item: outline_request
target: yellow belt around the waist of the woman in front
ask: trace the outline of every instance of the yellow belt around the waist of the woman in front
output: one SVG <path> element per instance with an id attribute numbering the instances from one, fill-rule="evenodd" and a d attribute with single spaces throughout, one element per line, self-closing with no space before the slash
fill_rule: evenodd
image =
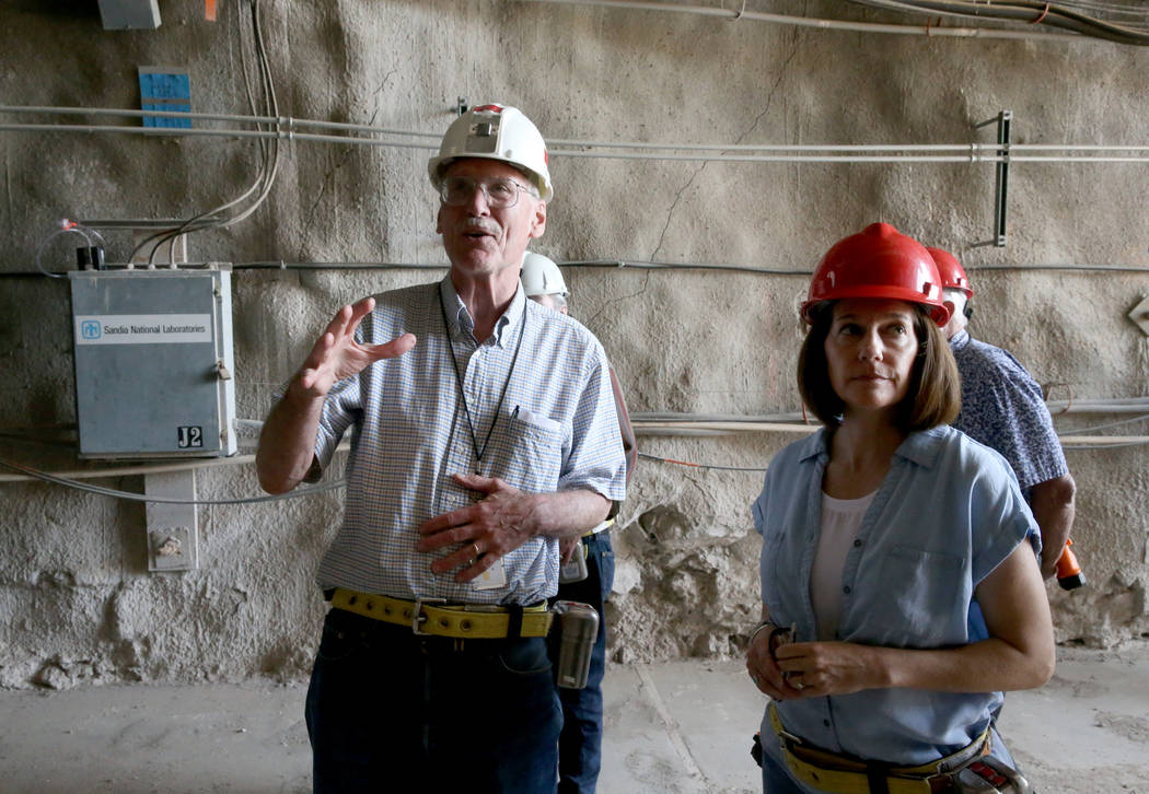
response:
<path id="1" fill-rule="evenodd" d="M 766 707 L 786 765 L 808 786 L 834 794 L 931 794 L 953 791 L 953 772 L 989 753 L 989 729 L 957 753 L 918 766 L 890 766 L 824 750 L 787 733 L 778 709 Z"/>

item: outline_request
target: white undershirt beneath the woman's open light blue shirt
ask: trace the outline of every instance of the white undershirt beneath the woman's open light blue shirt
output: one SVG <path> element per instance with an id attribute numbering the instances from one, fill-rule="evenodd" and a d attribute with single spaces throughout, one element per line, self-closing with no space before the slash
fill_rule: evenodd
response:
<path id="1" fill-rule="evenodd" d="M 818 622 L 818 639 L 833 640 L 842 612 L 842 568 L 877 491 L 861 499 L 822 494 L 822 537 L 810 569 L 810 601 Z"/>

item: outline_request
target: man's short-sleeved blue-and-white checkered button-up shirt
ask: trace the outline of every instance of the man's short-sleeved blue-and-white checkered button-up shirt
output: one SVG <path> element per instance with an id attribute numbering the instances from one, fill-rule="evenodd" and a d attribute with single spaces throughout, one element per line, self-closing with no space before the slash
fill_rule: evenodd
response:
<path id="1" fill-rule="evenodd" d="M 507 394 L 483 460 L 468 427 L 439 291 L 481 448 Z M 543 314 L 546 313 L 546 314 Z M 558 544 L 532 538 L 506 555 L 507 585 L 477 589 L 455 572 L 435 576 L 437 554 L 415 549 L 419 524 L 472 503 L 454 473 L 500 477 L 523 491 L 585 488 L 622 501 L 625 458 L 607 356 L 577 321 L 526 300 L 519 286 L 494 333 L 478 344 L 475 323 L 450 279 L 376 296 L 357 338 L 386 342 L 403 332 L 415 348 L 339 381 L 324 403 L 315 454 L 324 467 L 354 429 L 342 525 L 319 566 L 322 587 L 401 599 L 530 604 L 558 587 Z M 522 352 L 508 383 L 523 334 Z"/>

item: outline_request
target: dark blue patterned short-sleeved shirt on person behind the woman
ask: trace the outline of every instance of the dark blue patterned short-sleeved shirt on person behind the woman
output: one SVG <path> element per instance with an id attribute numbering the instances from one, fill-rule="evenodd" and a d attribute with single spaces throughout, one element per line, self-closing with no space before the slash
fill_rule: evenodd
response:
<path id="1" fill-rule="evenodd" d="M 1026 493 L 1069 473 L 1041 387 L 1018 360 L 964 330 L 949 347 L 962 373 L 962 414 L 954 426 L 1004 455 Z"/>

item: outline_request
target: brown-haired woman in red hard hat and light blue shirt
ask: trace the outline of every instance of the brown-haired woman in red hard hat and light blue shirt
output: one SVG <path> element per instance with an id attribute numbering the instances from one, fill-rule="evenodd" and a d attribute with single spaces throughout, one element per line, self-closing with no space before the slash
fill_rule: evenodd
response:
<path id="1" fill-rule="evenodd" d="M 770 794 L 1016 774 L 992 715 L 1052 674 L 1040 538 L 1004 458 L 947 426 L 948 315 L 933 259 L 888 224 L 833 246 L 810 284 L 797 378 L 825 427 L 774 457 L 753 504 Z"/>

